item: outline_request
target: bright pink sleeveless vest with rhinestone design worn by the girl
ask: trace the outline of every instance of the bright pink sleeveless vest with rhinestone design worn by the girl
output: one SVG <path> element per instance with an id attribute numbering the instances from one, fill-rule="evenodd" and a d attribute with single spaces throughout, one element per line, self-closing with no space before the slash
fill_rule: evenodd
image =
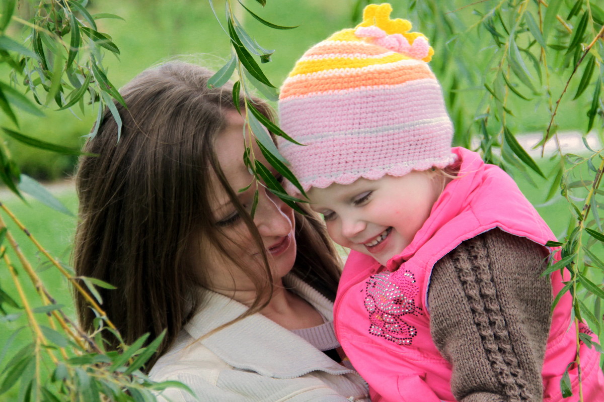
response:
<path id="1" fill-rule="evenodd" d="M 334 311 L 336 335 L 369 383 L 373 402 L 455 401 L 449 386 L 451 365 L 432 342 L 426 305 L 432 267 L 439 259 L 495 227 L 541 245 L 555 240 L 505 172 L 485 164 L 475 152 L 453 151 L 461 160 L 459 178 L 446 186 L 413 242 L 386 267 L 354 251 L 344 267 Z M 556 295 L 564 286 L 561 274 L 551 274 L 551 281 Z M 576 328 L 570 312 L 571 297 L 566 294 L 553 312 L 542 370 L 547 402 L 563 401 L 560 379 L 575 359 Z M 582 345 L 585 401 L 604 401 L 599 357 Z M 569 373 L 574 396 L 564 401 L 576 402 L 574 365 Z"/>

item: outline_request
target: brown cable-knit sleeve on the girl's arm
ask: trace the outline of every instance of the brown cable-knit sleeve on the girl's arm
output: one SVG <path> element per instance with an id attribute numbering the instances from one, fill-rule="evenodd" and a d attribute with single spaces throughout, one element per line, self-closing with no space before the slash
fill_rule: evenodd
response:
<path id="1" fill-rule="evenodd" d="M 543 247 L 493 229 L 436 263 L 432 339 L 451 362 L 461 402 L 542 401 L 551 284 Z"/>

